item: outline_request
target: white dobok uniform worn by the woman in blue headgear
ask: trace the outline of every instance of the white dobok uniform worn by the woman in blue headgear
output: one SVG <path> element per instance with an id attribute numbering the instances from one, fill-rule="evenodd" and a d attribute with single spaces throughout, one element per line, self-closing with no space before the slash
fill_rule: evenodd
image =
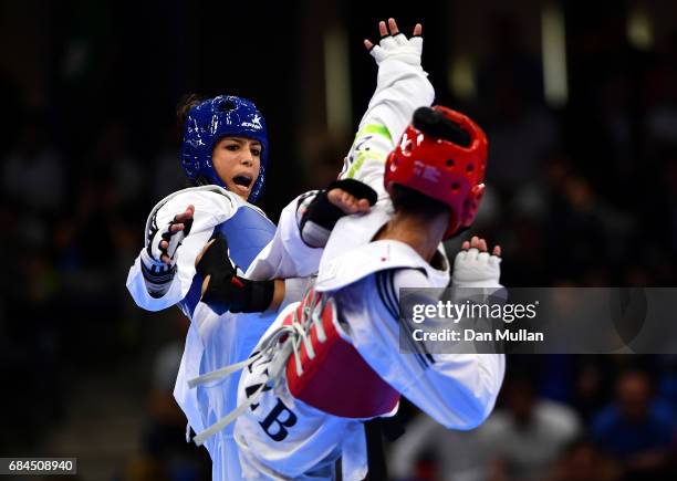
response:
<path id="1" fill-rule="evenodd" d="M 228 236 L 231 257 L 239 255 L 237 263 L 247 266 L 272 237 L 274 224 L 259 208 L 217 186 L 174 192 L 153 209 L 149 222 L 153 220 L 158 226 L 166 226 L 188 205 L 195 206 L 194 221 L 189 234 L 176 251 L 176 272 L 166 293 L 159 297 L 148 293 L 140 254 L 129 269 L 127 289 L 139 307 L 162 311 L 177 304 L 190 318 L 174 396 L 189 426 L 200 432 L 236 408 L 239 374 L 195 389 L 188 387 L 188 379 L 246 359 L 274 320 L 274 314 L 216 314 L 199 301 L 201 278 L 196 275 L 196 257 L 211 236 L 226 226 L 238 234 Z M 257 238 L 261 239 L 258 248 Z M 289 292 L 284 303 L 294 295 L 295 300 L 300 299 L 305 284 L 303 280 L 289 280 L 287 286 Z M 210 437 L 205 446 L 212 460 L 215 481 L 242 479 L 232 427 Z"/>

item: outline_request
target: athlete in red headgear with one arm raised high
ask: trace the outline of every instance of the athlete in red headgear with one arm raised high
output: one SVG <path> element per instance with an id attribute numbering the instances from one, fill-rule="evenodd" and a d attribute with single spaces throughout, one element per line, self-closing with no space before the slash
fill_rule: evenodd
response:
<path id="1" fill-rule="evenodd" d="M 384 38 L 371 50 L 378 85 L 340 176 L 372 187 L 377 202 L 368 213 L 336 219 L 331 189 L 302 196 L 284 209 L 273 241 L 247 273 L 305 275 L 321 255 L 314 289 L 268 330 L 246 363 L 238 410 L 213 427 L 237 419 L 240 461 L 251 479 L 333 479 L 340 457 L 344 479 L 363 479 L 363 420 L 393 415 L 405 396 L 446 427 L 471 429 L 493 408 L 503 378 L 498 354 L 437 354 L 414 343 L 413 354 L 400 353 L 407 326 L 399 320 L 399 290 L 446 287 L 450 279 L 498 289 L 500 249 L 490 255 L 473 238 L 450 278 L 440 242 L 472 222 L 487 139 L 461 114 L 417 108 L 434 96 L 420 66 L 420 25 L 412 39 L 393 20 L 389 35 L 385 22 L 379 28 Z M 210 276 L 209 305 L 227 304 L 237 289 L 226 252 L 226 240 L 218 239 L 198 264 Z"/>

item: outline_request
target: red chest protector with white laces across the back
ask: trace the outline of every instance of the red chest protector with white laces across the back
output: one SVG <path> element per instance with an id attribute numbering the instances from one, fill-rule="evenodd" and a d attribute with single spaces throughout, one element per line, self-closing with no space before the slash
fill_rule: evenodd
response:
<path id="1" fill-rule="evenodd" d="M 314 321 L 314 322 L 313 322 Z M 338 333 L 334 300 L 311 290 L 283 324 L 300 322 L 312 344 L 309 353 L 299 343 L 300 367 L 292 354 L 287 362 L 287 384 L 303 402 L 330 415 L 344 418 L 373 418 L 390 412 L 399 393 L 369 367 L 352 344 Z M 315 323 L 322 325 L 324 336 Z"/>

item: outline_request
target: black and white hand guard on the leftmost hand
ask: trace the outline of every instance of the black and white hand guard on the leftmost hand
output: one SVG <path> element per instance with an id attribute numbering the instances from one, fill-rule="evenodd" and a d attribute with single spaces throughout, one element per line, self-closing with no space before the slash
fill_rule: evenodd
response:
<path id="1" fill-rule="evenodd" d="M 175 223 L 177 223 L 176 220 L 171 220 L 160 229 L 157 226 L 156 210 L 150 215 L 146 224 L 146 249 L 140 253 L 142 273 L 146 281 L 146 289 L 153 297 L 162 297 L 169 289 L 176 272 L 176 251 L 190 232 L 192 219 L 184 222 L 184 230 L 179 232 L 171 232 Z M 160 245 L 162 241 L 167 241 L 167 248 Z M 170 259 L 169 264 L 163 262 L 163 255 Z"/>

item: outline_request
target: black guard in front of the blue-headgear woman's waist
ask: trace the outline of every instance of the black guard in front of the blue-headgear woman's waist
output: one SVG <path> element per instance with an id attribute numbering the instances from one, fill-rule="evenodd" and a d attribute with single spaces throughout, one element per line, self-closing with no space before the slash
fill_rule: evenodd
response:
<path id="1" fill-rule="evenodd" d="M 207 248 L 196 265 L 197 272 L 209 284 L 202 302 L 221 315 L 225 312 L 251 313 L 267 311 L 274 294 L 274 281 L 250 281 L 237 275 L 228 255 L 228 242 L 222 234 Z"/>

